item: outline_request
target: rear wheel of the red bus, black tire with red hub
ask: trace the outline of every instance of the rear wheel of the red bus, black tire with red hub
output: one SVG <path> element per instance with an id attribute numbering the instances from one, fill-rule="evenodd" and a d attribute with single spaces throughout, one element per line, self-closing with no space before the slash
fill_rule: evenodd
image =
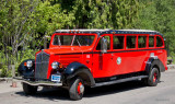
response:
<path id="1" fill-rule="evenodd" d="M 150 71 L 149 78 L 143 79 L 142 81 L 145 85 L 156 86 L 158 83 L 160 82 L 160 77 L 161 74 L 159 72 L 159 69 L 152 68 L 152 70 Z"/>

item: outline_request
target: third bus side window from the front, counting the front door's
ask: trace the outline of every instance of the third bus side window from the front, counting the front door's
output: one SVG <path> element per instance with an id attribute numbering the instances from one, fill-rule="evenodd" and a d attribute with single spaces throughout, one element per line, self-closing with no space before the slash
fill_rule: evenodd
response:
<path id="1" fill-rule="evenodd" d="M 127 48 L 136 48 L 136 36 L 127 36 Z"/>

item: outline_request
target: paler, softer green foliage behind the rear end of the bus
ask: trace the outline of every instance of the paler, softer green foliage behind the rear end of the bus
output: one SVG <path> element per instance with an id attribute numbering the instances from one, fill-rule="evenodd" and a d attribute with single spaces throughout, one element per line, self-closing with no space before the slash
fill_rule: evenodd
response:
<path id="1" fill-rule="evenodd" d="M 140 0 L 139 20 L 136 28 L 154 30 L 166 38 L 170 55 L 175 51 L 175 1 L 174 0 Z"/>

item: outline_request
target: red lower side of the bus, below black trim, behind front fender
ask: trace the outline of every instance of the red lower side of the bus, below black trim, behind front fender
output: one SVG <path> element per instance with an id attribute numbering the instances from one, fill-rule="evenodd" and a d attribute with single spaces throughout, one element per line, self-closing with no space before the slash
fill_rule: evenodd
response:
<path id="1" fill-rule="evenodd" d="M 161 53 L 160 53 L 161 51 Z M 125 74 L 131 72 L 144 71 L 145 63 L 150 58 L 150 54 L 154 53 L 155 56 L 166 66 L 166 50 L 143 50 L 143 51 L 127 51 L 127 53 L 113 53 L 112 54 L 94 54 L 93 66 L 94 78 L 113 77 L 117 74 Z M 113 57 L 113 58 L 112 58 Z M 117 58 L 121 58 L 121 63 L 117 65 Z"/>

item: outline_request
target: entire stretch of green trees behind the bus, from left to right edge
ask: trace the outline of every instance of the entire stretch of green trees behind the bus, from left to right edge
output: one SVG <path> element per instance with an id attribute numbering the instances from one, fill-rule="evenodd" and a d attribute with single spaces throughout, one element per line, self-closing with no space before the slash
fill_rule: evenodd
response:
<path id="1" fill-rule="evenodd" d="M 164 34 L 175 55 L 174 4 L 174 0 L 1 0 L 0 62 L 3 69 L 10 65 L 16 69 L 21 61 L 35 58 L 44 36 L 66 28 L 154 30 Z"/>

